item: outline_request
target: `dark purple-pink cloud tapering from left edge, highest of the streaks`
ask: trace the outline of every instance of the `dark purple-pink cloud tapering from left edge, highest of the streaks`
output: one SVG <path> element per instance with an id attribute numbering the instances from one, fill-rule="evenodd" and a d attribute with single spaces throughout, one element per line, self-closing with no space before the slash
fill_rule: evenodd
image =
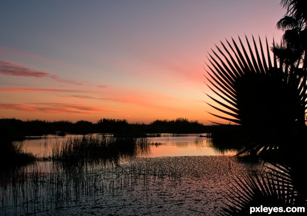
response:
<path id="1" fill-rule="evenodd" d="M 1 59 L 0 59 L 0 74 L 6 75 L 6 76 L 51 78 L 58 82 L 82 85 L 82 83 L 77 82 L 77 81 L 62 79 L 59 76 L 54 75 L 54 74 L 50 74 L 50 73 L 43 72 L 43 71 L 37 71 L 34 69 L 29 69 L 24 66 L 20 66 L 19 64 L 16 64 L 10 61 L 4 61 Z"/>

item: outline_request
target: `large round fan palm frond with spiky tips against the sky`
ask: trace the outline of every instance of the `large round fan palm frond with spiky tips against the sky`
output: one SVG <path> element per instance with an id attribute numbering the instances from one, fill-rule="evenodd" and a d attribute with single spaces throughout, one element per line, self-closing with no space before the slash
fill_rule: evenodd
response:
<path id="1" fill-rule="evenodd" d="M 207 94 L 215 102 L 208 104 L 218 111 L 210 114 L 248 131 L 253 140 L 240 153 L 284 149 L 301 138 L 297 132 L 305 123 L 304 77 L 298 64 L 277 61 L 267 40 L 264 48 L 260 37 L 259 45 L 252 37 L 253 46 L 245 38 L 247 47 L 240 37 L 238 44 L 232 38 L 232 44 L 221 41 L 223 49 L 216 46 L 209 54 L 205 76 L 217 97 Z"/>

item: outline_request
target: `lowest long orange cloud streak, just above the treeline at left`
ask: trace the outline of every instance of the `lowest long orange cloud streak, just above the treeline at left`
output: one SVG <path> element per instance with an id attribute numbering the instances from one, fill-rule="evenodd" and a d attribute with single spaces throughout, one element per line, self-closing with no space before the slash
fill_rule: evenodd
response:
<path id="1" fill-rule="evenodd" d="M 43 113 L 91 114 L 93 112 L 114 112 L 96 106 L 69 103 L 0 103 L 0 110 L 17 110 Z"/>

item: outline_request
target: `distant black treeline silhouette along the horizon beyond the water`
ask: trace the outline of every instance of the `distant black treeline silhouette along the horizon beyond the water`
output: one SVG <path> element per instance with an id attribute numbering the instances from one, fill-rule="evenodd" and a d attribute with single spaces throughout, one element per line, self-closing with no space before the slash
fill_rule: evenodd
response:
<path id="1" fill-rule="evenodd" d="M 186 118 L 176 120 L 155 120 L 149 124 L 128 123 L 126 119 L 100 119 L 97 123 L 80 120 L 75 123 L 70 121 L 46 121 L 0 119 L 0 135 L 7 138 L 22 139 L 25 136 L 41 136 L 47 134 L 64 135 L 89 134 L 89 133 L 119 133 L 119 134 L 144 134 L 144 133 L 210 133 L 212 126 L 204 125 L 198 121 L 189 121 Z"/>

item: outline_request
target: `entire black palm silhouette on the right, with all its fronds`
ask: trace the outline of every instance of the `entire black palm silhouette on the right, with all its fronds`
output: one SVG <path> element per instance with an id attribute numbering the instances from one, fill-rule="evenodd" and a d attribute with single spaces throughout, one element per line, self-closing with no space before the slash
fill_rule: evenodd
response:
<path id="1" fill-rule="evenodd" d="M 278 153 L 282 160 L 267 174 L 238 177 L 228 192 L 221 215 L 246 215 L 252 206 L 307 207 L 305 184 L 306 8 L 304 0 L 281 1 L 287 7 L 278 27 L 285 30 L 281 44 L 270 49 L 246 37 L 246 45 L 232 39 L 209 55 L 206 78 L 216 97 L 208 95 L 218 113 L 212 115 L 242 125 L 237 134 L 245 152 L 259 156 Z M 271 53 L 273 51 L 273 53 Z M 246 139 L 248 138 L 248 139 Z M 245 140 L 243 140 L 245 139 Z M 270 156 L 274 156 L 270 154 Z M 268 159 L 268 158 L 267 158 Z M 275 162 L 275 161 L 274 161 Z M 280 212 L 278 212 L 280 213 Z M 298 214 L 299 215 L 299 214 Z"/>

